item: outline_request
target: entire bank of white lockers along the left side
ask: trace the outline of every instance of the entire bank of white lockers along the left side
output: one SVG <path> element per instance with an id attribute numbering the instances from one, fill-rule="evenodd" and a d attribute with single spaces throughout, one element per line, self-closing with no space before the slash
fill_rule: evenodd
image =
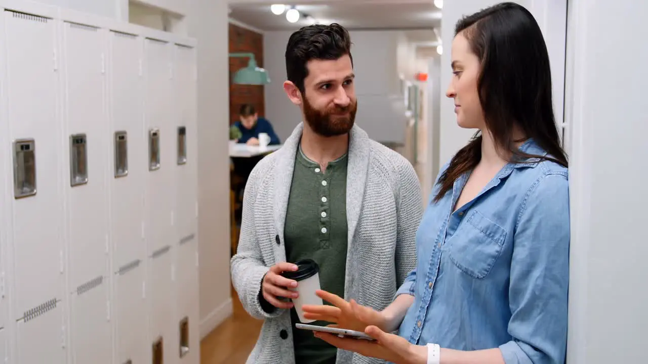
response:
<path id="1" fill-rule="evenodd" d="M 198 364 L 194 44 L 11 4 L 0 6 L 0 361 Z"/>

